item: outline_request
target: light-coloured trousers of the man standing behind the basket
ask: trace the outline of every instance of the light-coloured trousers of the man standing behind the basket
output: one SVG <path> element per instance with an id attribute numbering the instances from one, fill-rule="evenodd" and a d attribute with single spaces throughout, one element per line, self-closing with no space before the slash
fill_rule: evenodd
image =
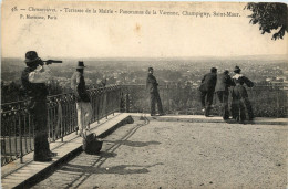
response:
<path id="1" fill-rule="evenodd" d="M 86 129 L 92 118 L 92 106 L 88 102 L 78 102 L 78 126 L 80 134 L 83 133 L 83 129 Z"/>

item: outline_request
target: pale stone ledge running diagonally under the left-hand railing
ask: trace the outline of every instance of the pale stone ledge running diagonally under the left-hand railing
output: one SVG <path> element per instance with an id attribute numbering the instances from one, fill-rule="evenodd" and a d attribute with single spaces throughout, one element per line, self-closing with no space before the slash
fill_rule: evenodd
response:
<path id="1" fill-rule="evenodd" d="M 117 113 L 114 116 L 110 115 L 107 118 L 101 119 L 100 123 L 91 124 L 90 128 L 99 137 L 104 137 L 116 127 L 125 124 L 127 119 L 132 119 L 128 114 Z M 82 137 L 72 133 L 65 136 L 63 141 L 59 139 L 51 143 L 50 149 L 58 153 L 58 156 L 53 157 L 52 161 L 33 161 L 33 153 L 30 153 L 23 157 L 23 164 L 20 162 L 20 159 L 17 159 L 1 167 L 1 188 L 23 188 L 25 183 L 29 183 L 32 179 L 43 174 L 43 171 L 55 167 L 71 154 L 82 150 Z"/>

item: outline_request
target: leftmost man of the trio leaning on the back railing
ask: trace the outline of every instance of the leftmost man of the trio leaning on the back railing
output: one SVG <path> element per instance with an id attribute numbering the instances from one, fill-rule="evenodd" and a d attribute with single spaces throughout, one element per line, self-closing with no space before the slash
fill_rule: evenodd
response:
<path id="1" fill-rule="evenodd" d="M 217 81 L 217 69 L 212 67 L 210 73 L 204 75 L 202 80 L 202 85 L 199 87 L 200 91 L 200 102 L 202 107 L 205 111 L 205 116 L 209 116 L 210 114 L 210 106 L 213 103 L 213 95 L 215 91 L 215 85 Z"/>

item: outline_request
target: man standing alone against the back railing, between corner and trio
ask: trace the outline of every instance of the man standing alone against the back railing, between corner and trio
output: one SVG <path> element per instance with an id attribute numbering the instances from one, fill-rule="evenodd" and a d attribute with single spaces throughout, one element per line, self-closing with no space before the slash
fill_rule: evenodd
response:
<path id="1" fill-rule="evenodd" d="M 155 103 L 157 104 L 160 116 L 164 115 L 157 86 L 158 83 L 156 77 L 153 75 L 153 67 L 148 67 L 146 90 L 150 92 L 151 116 L 155 116 Z"/>

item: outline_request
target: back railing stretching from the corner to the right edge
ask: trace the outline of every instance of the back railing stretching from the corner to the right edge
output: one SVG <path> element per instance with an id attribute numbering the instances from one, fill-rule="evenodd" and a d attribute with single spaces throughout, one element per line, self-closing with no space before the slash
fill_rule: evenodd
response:
<path id="1" fill-rule="evenodd" d="M 123 93 L 130 103 L 128 112 L 150 113 L 150 94 L 145 85 L 123 85 Z M 287 117 L 287 86 L 258 85 L 247 88 L 249 99 L 257 117 Z M 200 92 L 197 86 L 162 85 L 158 87 L 166 114 L 203 115 Z M 230 98 L 229 98 L 230 103 Z M 212 114 L 219 115 L 219 103 L 214 95 Z"/>

